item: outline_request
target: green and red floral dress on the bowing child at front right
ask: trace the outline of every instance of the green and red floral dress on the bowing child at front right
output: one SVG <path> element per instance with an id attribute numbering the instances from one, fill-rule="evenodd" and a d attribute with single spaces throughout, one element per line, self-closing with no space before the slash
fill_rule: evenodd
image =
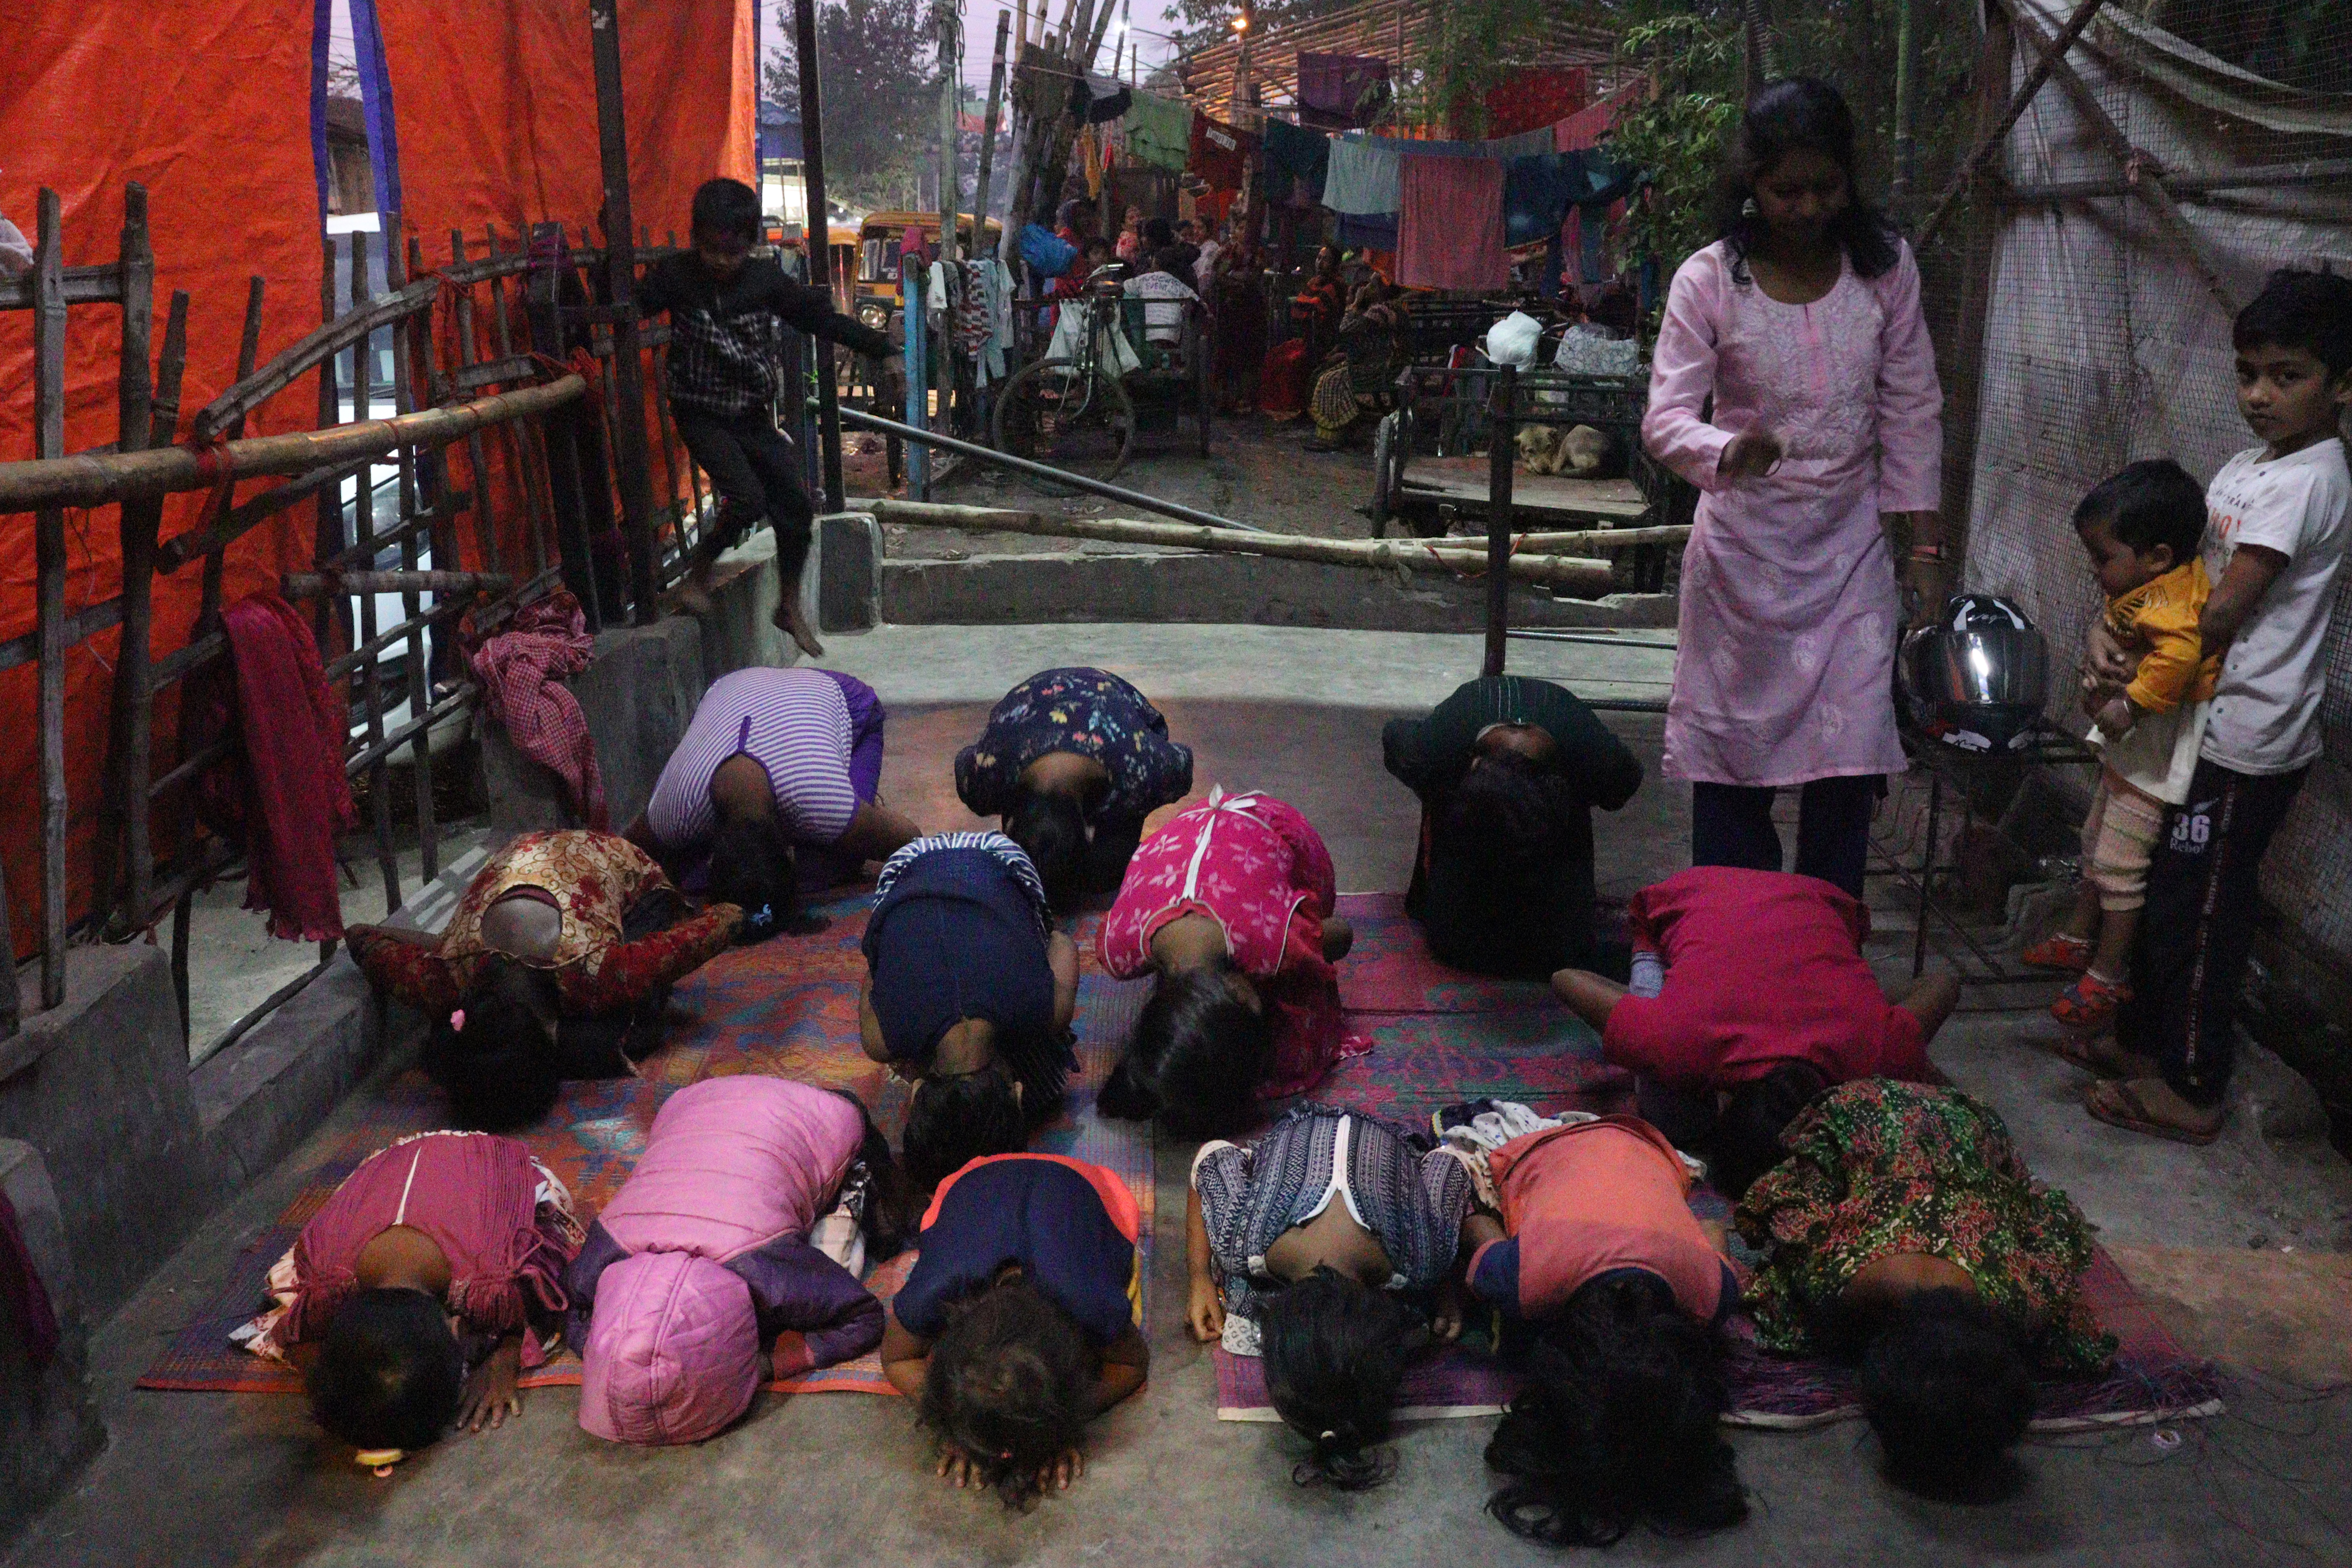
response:
<path id="1" fill-rule="evenodd" d="M 1764 1253 L 1745 1298 L 1764 1349 L 1811 1354 L 1816 1307 L 1889 1253 L 1929 1253 L 1976 1279 L 2044 1371 L 2096 1373 L 2114 1359 L 2114 1335 L 2082 1300 L 2091 1222 L 2034 1182 L 1992 1107 L 1957 1088 L 1863 1079 L 1797 1117 L 1783 1147 L 1790 1157 L 1736 1215 Z"/>

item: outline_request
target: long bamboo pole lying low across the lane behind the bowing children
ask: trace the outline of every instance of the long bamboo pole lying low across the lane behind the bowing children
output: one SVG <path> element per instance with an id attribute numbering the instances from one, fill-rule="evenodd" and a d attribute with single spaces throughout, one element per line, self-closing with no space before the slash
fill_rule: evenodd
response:
<path id="1" fill-rule="evenodd" d="M 1042 534 L 1049 538 L 1091 538 L 1115 545 L 1160 545 L 1171 550 L 1209 550 L 1214 555 L 1263 555 L 1327 567 L 1374 567 L 1383 571 L 1439 571 L 1475 576 L 1486 569 L 1484 548 L 1437 545 L 1411 538 L 1308 538 L 1301 534 L 1247 534 L 1209 529 L 1190 522 L 1145 522 L 1141 517 L 1056 517 L 988 505 L 943 505 L 922 501 L 854 501 L 861 512 L 882 522 L 906 522 L 931 529 L 969 529 L 974 534 Z M 1519 583 L 1550 583 L 1573 592 L 1609 592 L 1609 562 L 1573 555 L 1512 555 L 1510 576 Z"/>

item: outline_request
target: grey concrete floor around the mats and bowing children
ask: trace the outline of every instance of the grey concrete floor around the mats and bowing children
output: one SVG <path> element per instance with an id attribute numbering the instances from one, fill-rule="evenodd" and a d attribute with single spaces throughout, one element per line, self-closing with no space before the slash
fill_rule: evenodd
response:
<path id="1" fill-rule="evenodd" d="M 1524 656 L 1522 656 L 1524 649 Z M 1515 644 L 1515 668 L 1588 696 L 1656 691 L 1658 654 Z M 1197 748 L 1197 783 L 1289 792 L 1324 827 L 1343 889 L 1395 889 L 1411 797 L 1378 766 L 1390 712 L 1477 668 L 1470 637 L 1256 628 L 891 628 L 835 644 L 894 708 L 887 790 L 950 825 L 946 764 L 985 701 L 1049 663 L 1101 663 L 1160 698 Z M 1613 719 L 1656 762 L 1656 719 Z M 1686 858 L 1686 792 L 1651 780 L 1599 827 L 1604 884 Z M 1889 919 L 1884 954 L 1907 952 Z M 2004 992 L 2009 997 L 2009 992 Z M 1971 1006 L 1987 1006 L 1985 994 Z M 2077 1077 L 2030 1048 L 2030 1011 L 1964 1013 L 1936 1056 L 2011 1119 L 2032 1166 L 2145 1258 L 2180 1321 L 2246 1368 L 2230 1415 L 2178 1429 L 2034 1441 L 2018 1488 L 1955 1507 L 1889 1488 L 1860 1427 L 1733 1434 L 1752 1519 L 1696 1542 L 1637 1533 L 1621 1561 L 1670 1563 L 2343 1563 L 2352 1406 L 2340 1378 L 2352 1171 L 2326 1145 L 2274 1145 L 2239 1114 L 2213 1150 L 2136 1143 L 2072 1107 Z M 1218 1425 L 1207 1354 L 1181 1328 L 1181 1248 L 1152 1269 L 1152 1380 L 1089 1436 L 1089 1474 L 1025 1516 L 931 1479 L 896 1401 L 762 1396 L 710 1443 L 630 1450 L 586 1436 L 576 1396 L 539 1392 L 520 1427 L 452 1439 L 390 1481 L 320 1441 L 294 1399 L 136 1394 L 132 1378 L 226 1260 L 287 1201 L 339 1126 L 259 1182 L 96 1333 L 113 1443 L 7 1563 L 1136 1563 L 1550 1561 L 1482 1516 L 1489 1420 L 1402 1434 L 1397 1481 L 1367 1495 L 1291 1483 L 1279 1427 Z M 1188 1150 L 1162 1138 L 1160 1237 L 1181 1237 Z M 2166 1248 L 2161 1253 L 2138 1248 Z M 2288 1251 L 2293 1248 L 2293 1251 Z M 2319 1251 L 2321 1258 L 2310 1253 Z M 2336 1359 L 2326 1352 L 2336 1349 Z M 2178 1439 L 2178 1441 L 2176 1441 Z"/>

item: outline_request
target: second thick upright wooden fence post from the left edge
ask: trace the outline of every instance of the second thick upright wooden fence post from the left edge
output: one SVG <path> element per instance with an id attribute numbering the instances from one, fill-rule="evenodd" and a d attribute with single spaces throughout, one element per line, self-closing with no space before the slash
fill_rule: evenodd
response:
<path id="1" fill-rule="evenodd" d="M 148 240 L 146 186 L 122 188 L 122 355 L 115 369 L 115 447 L 120 451 L 143 451 L 151 440 L 155 409 L 155 378 L 148 367 L 148 348 L 155 331 L 155 247 Z M 106 715 L 106 773 L 99 795 L 99 837 L 89 877 L 89 907 L 103 924 L 115 910 L 120 891 L 118 877 L 127 860 L 143 858 L 129 844 L 129 820 L 139 818 L 141 849 L 146 842 L 146 811 L 132 804 L 146 790 L 146 748 L 132 757 L 134 712 L 146 710 L 148 654 L 153 649 L 155 607 L 155 531 L 162 522 L 162 503 L 129 503 L 122 508 L 118 527 L 122 538 L 122 642 L 115 651 L 115 679 L 108 691 Z M 143 741 L 143 736 L 139 736 Z M 125 907 L 125 931 L 141 924 L 143 910 Z"/>

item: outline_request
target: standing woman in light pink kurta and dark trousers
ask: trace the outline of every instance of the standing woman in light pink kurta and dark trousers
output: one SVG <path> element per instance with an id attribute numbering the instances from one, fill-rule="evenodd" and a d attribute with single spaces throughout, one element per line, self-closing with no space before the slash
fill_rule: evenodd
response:
<path id="1" fill-rule="evenodd" d="M 1943 393 L 1919 268 L 1853 193 L 1837 92 L 1766 85 L 1733 158 L 1724 237 L 1668 292 L 1642 421 L 1703 491 L 1665 773 L 1693 783 L 1696 865 L 1783 870 L 1771 792 L 1804 785 L 1797 870 L 1860 896 L 1872 806 L 1905 766 L 1884 520 L 1907 515 L 1907 585 L 1940 604 Z"/>

